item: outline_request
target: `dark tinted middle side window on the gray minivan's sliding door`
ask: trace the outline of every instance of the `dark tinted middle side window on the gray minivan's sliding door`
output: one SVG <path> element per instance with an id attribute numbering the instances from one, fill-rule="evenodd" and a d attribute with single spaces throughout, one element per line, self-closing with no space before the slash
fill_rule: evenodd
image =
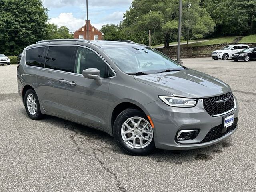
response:
<path id="1" fill-rule="evenodd" d="M 45 68 L 74 72 L 74 46 L 49 47 Z"/>

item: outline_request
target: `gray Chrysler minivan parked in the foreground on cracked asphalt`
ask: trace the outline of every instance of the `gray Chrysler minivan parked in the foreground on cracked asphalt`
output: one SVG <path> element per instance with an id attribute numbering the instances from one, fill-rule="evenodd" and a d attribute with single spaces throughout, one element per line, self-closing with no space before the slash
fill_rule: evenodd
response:
<path id="1" fill-rule="evenodd" d="M 238 128 L 228 84 L 127 40 L 38 42 L 24 49 L 17 78 L 30 118 L 102 130 L 131 155 L 210 146 Z"/>

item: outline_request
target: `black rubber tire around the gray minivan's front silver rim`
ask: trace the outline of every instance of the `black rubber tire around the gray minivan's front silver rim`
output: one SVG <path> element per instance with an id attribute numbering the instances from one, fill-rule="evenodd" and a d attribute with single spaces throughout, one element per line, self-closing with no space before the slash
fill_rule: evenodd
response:
<path id="1" fill-rule="evenodd" d="M 113 127 L 114 139 L 115 139 L 117 145 L 127 154 L 135 155 L 135 156 L 148 155 L 155 150 L 154 136 L 152 136 L 152 140 L 148 144 L 148 146 L 146 146 L 144 148 L 140 148 L 140 149 L 136 149 L 136 148 L 132 148 L 132 147 L 128 146 L 128 144 L 126 144 L 124 142 L 124 140 L 122 139 L 122 135 L 121 135 L 122 125 L 124 124 L 124 122 L 126 120 L 128 120 L 131 117 L 141 117 L 141 118 L 144 118 L 146 121 L 150 122 L 148 120 L 148 117 L 146 116 L 146 114 L 144 114 L 144 112 L 142 112 L 138 109 L 135 109 L 135 108 L 128 108 L 128 109 L 124 110 L 123 112 L 121 112 L 114 122 L 114 127 Z M 153 129 L 152 129 L 152 131 L 153 131 Z M 133 134 L 135 134 L 135 132 Z M 132 135 L 132 133 L 131 133 L 131 135 Z"/>

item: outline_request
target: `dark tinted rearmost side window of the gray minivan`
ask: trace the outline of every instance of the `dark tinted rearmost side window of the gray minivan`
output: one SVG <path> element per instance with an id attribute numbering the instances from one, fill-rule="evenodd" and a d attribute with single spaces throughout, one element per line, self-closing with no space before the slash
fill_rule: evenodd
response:
<path id="1" fill-rule="evenodd" d="M 44 47 L 32 48 L 26 51 L 26 64 L 36 67 L 44 67 Z"/>

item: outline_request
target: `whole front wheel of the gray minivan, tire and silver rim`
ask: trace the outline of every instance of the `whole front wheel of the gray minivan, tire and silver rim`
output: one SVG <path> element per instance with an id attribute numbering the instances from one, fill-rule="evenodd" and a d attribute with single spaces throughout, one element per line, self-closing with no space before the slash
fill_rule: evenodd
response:
<path id="1" fill-rule="evenodd" d="M 144 112 L 128 108 L 114 122 L 113 135 L 127 154 L 144 156 L 155 149 L 153 128 Z"/>

